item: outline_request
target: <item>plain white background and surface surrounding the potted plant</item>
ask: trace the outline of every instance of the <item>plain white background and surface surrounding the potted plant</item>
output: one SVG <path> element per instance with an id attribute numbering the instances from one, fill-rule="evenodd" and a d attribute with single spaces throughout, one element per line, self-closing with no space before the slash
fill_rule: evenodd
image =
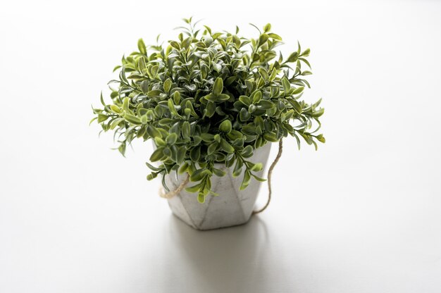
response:
<path id="1" fill-rule="evenodd" d="M 88 125 L 121 56 L 190 15 L 299 39 L 323 97 L 326 144 L 285 139 L 241 227 L 187 227 L 150 144 Z M 0 292 L 441 292 L 440 29 L 439 1 L 1 2 Z"/>

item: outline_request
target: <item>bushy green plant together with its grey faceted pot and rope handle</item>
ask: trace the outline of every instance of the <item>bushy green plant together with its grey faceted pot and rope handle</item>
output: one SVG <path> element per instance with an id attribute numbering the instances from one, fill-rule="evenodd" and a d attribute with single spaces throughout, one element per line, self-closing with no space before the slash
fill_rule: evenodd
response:
<path id="1" fill-rule="evenodd" d="M 259 192 L 271 144 L 292 136 L 325 142 L 318 118 L 321 100 L 301 99 L 310 75 L 309 49 L 283 58 L 282 38 L 267 24 L 255 39 L 235 32 L 199 30 L 185 19 L 178 39 L 123 57 L 111 102 L 94 108 L 93 120 L 112 130 L 119 151 L 133 139 L 151 139 L 148 180 L 162 177 L 161 194 L 176 216 L 200 230 L 246 223 Z M 158 38 L 156 39 L 158 42 Z M 316 126 L 316 127 L 315 127 Z M 315 128 L 315 129 L 312 129 Z M 268 203 L 267 203 L 268 205 Z M 266 206 L 267 206 L 266 205 Z M 266 206 L 264 208 L 266 208 Z M 261 210 L 263 210 L 262 208 Z"/>

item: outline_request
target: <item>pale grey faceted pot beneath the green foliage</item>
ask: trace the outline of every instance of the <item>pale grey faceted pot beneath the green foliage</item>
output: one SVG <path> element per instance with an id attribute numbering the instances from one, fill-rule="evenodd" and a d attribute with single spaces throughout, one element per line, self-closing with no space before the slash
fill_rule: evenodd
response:
<path id="1" fill-rule="evenodd" d="M 259 149 L 248 160 L 253 163 L 262 163 L 266 166 L 270 153 L 271 143 L 267 143 Z M 209 195 L 204 204 L 197 201 L 197 195 L 183 190 L 175 197 L 168 199 L 168 204 L 178 218 L 198 230 L 211 230 L 221 227 L 230 227 L 247 223 L 256 203 L 261 182 L 251 179 L 249 186 L 239 190 L 242 183 L 242 174 L 232 177 L 232 168 L 226 168 L 223 164 L 217 164 L 216 168 L 225 170 L 223 177 L 213 175 L 211 187 L 213 192 L 219 194 L 217 197 Z M 260 177 L 263 170 L 256 175 Z M 186 175 L 166 175 L 166 185 L 170 190 L 176 189 L 185 180 Z M 192 182 L 189 183 L 192 185 Z"/>

